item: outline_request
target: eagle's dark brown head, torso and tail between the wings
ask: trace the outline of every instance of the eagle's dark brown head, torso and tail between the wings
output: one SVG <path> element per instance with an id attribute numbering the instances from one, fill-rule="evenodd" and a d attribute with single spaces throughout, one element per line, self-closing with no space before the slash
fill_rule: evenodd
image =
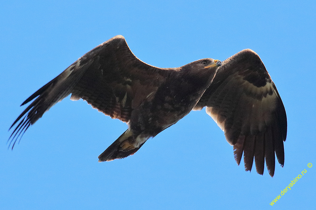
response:
<path id="1" fill-rule="evenodd" d="M 161 78 L 159 85 L 152 84 L 150 91 L 144 90 L 145 98 L 131 111 L 129 129 L 99 156 L 99 162 L 134 154 L 150 137 L 187 115 L 222 65 L 216 60 L 220 65 L 205 68 L 201 62 L 207 66 L 213 63 L 213 59 L 202 59 L 179 69 L 165 70 L 165 77 Z"/>

